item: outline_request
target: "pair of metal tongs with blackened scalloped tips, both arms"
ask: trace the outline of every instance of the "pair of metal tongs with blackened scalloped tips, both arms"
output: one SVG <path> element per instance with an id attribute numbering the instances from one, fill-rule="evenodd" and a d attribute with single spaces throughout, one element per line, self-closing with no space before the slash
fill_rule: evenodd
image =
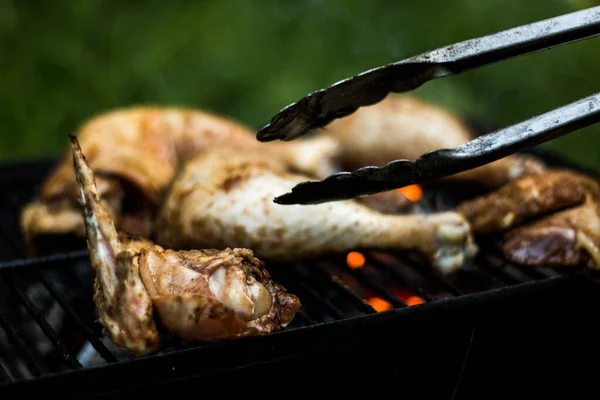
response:
<path id="1" fill-rule="evenodd" d="M 257 133 L 261 142 L 293 140 L 390 92 L 600 34 L 600 6 L 442 47 L 375 68 L 313 92 L 281 110 Z M 566 135 L 600 121 L 600 93 L 527 121 L 479 136 L 462 146 L 395 160 L 383 167 L 340 172 L 307 181 L 274 199 L 278 204 L 317 204 L 351 199 L 453 175 Z"/>

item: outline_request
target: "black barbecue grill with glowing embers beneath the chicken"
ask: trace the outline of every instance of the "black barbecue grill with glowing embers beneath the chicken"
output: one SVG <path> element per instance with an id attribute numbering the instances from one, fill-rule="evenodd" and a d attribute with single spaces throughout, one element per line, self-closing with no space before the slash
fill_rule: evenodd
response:
<path id="1" fill-rule="evenodd" d="M 535 154 L 577 168 L 547 152 Z M 523 390 L 537 384 L 539 372 L 560 373 L 568 384 L 569 376 L 585 372 L 570 365 L 584 347 L 589 354 L 597 332 L 589 317 L 600 299 L 588 272 L 510 265 L 493 238 L 481 241 L 478 258 L 452 276 L 405 254 L 367 249 L 357 249 L 358 261 L 344 254 L 269 264 L 304 304 L 288 328 L 233 342 L 174 343 L 132 359 L 95 322 L 87 250 L 25 258 L 19 210 L 55 162 L 0 169 L 2 398 L 38 390 L 65 399 L 108 398 L 199 390 L 202 383 L 251 388 L 265 379 L 292 386 L 334 382 L 336 391 L 352 386 L 341 377 L 399 393 L 461 398 L 485 382 L 527 384 Z M 449 209 L 479 192 L 467 184 L 424 186 L 418 206 L 421 212 Z M 423 376 L 430 384 L 423 386 Z"/>

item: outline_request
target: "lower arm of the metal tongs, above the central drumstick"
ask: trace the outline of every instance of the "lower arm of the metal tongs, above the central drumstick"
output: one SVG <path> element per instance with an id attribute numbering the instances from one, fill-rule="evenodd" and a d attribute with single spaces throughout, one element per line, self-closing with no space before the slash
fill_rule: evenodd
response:
<path id="1" fill-rule="evenodd" d="M 415 161 L 396 160 L 383 167 L 363 167 L 321 181 L 299 183 L 274 202 L 318 204 L 423 183 L 496 161 L 599 121 L 600 93 L 596 93 L 459 147 L 425 153 Z"/>

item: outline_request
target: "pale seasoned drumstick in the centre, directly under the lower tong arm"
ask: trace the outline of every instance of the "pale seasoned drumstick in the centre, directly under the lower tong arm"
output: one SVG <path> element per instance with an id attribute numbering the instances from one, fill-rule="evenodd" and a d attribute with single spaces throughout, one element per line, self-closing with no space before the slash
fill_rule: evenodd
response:
<path id="1" fill-rule="evenodd" d="M 248 247 L 288 261 L 356 248 L 414 250 L 444 272 L 476 252 L 458 213 L 385 215 L 355 200 L 284 206 L 273 202 L 305 175 L 233 149 L 203 153 L 175 178 L 157 219 L 157 243 L 189 249 Z"/>

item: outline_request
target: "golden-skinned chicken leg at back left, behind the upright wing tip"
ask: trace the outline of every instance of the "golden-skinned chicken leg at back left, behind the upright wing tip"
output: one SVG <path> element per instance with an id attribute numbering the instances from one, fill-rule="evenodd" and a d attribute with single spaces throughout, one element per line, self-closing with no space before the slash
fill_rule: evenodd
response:
<path id="1" fill-rule="evenodd" d="M 323 178 L 336 166 L 334 139 L 260 143 L 237 122 L 204 111 L 138 106 L 106 112 L 87 121 L 77 135 L 96 174 L 98 191 L 117 227 L 149 236 L 165 189 L 190 156 L 219 146 L 258 150 L 291 169 Z M 21 228 L 30 253 L 41 235 L 84 236 L 70 151 L 51 171 L 39 196 L 27 204 Z"/>

